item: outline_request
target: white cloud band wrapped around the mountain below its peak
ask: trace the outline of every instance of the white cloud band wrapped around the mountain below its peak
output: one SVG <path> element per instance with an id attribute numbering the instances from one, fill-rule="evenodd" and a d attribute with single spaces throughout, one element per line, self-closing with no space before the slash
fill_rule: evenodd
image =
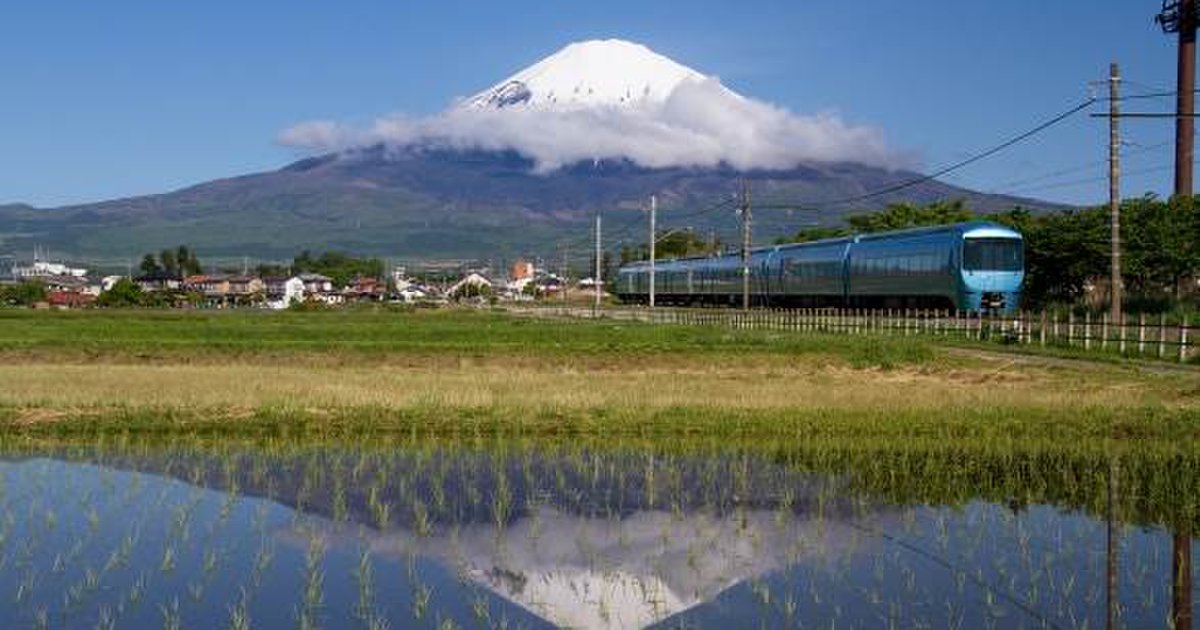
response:
<path id="1" fill-rule="evenodd" d="M 803 162 L 901 166 L 872 127 L 836 114 L 797 115 L 742 97 L 716 79 L 680 83 L 660 103 L 588 109 L 451 108 L 413 119 L 391 115 L 368 130 L 307 121 L 280 136 L 284 145 L 338 151 L 384 143 L 515 150 L 539 172 L 581 161 L 628 158 L 648 168 L 786 169 Z"/>

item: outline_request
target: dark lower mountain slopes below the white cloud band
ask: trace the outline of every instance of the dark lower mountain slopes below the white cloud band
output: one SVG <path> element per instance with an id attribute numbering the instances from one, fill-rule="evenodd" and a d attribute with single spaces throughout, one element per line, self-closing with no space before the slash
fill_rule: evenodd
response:
<path id="1" fill-rule="evenodd" d="M 290 258 L 306 248 L 403 258 L 557 256 L 564 241 L 577 247 L 587 241 L 596 211 L 614 238 L 631 236 L 641 223 L 636 210 L 652 193 L 659 194 L 664 229 L 712 229 L 726 240 L 737 233 L 732 211 L 672 221 L 730 198 L 740 176 L 732 169 L 648 169 L 614 161 L 545 175 L 532 168 L 514 152 L 374 146 L 166 194 L 54 209 L 0 206 L 0 251 L 41 245 L 83 258 L 127 259 L 182 242 L 206 257 Z M 746 175 L 756 199 L 792 200 L 841 198 L 914 176 L 851 163 Z M 1044 205 L 931 181 L 872 199 L 870 208 L 952 198 L 967 198 L 978 210 Z M 836 223 L 846 211 L 762 210 L 755 240 L 811 222 Z"/>

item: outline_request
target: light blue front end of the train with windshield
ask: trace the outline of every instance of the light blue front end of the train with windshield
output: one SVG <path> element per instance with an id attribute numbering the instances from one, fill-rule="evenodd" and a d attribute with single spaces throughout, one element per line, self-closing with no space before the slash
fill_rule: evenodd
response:
<path id="1" fill-rule="evenodd" d="M 959 308 L 1016 311 L 1025 282 L 1025 242 L 1019 232 L 995 223 L 964 224 L 959 260 Z"/>

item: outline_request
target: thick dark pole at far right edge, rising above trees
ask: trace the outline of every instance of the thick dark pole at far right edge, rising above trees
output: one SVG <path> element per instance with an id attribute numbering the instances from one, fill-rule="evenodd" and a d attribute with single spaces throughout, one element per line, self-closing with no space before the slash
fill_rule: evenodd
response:
<path id="1" fill-rule="evenodd" d="M 1163 32 L 1180 34 L 1175 79 L 1175 196 L 1192 196 L 1195 155 L 1196 1 L 1164 0 L 1154 17 Z"/>

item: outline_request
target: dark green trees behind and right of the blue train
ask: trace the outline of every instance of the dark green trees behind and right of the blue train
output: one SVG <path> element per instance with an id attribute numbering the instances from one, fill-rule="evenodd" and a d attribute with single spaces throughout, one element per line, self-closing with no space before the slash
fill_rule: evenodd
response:
<path id="1" fill-rule="evenodd" d="M 851 233 L 884 232 L 983 218 L 1010 226 L 1025 238 L 1025 299 L 1031 307 L 1074 304 L 1086 287 L 1109 276 L 1108 206 L 1033 214 L 1013 209 L 979 215 L 964 202 L 929 205 L 893 204 L 851 216 L 846 228 L 816 228 L 786 242 Z M 1200 204 L 1196 198 L 1126 199 L 1121 204 L 1122 277 L 1128 299 L 1160 310 L 1188 298 L 1186 283 L 1200 276 Z"/>

